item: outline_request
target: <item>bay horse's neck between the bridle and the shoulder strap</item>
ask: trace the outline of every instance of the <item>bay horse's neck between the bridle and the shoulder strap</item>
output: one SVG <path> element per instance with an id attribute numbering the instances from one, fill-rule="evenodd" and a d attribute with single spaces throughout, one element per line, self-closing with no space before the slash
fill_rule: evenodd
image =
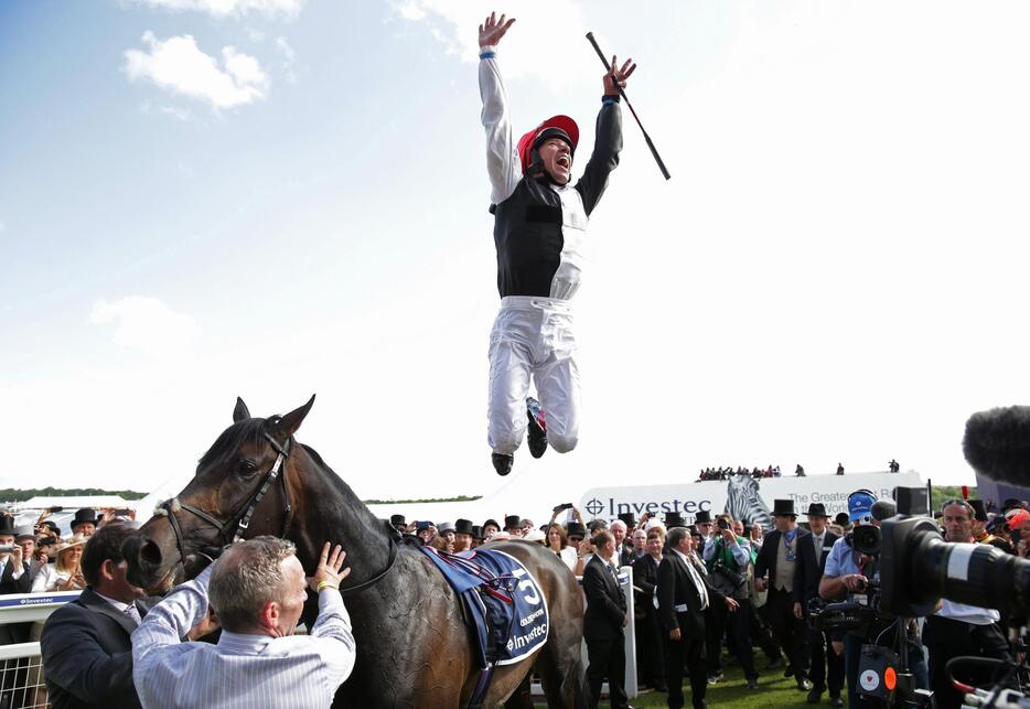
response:
<path id="1" fill-rule="evenodd" d="M 303 450 L 303 449 L 301 449 Z M 336 474 L 304 451 L 303 519 L 296 524 L 294 541 L 318 565 L 322 545 L 341 545 L 347 557 L 344 567 L 351 576 L 344 587 L 355 586 L 386 568 L 389 537 L 386 528 L 354 491 Z M 303 560 L 303 559 L 302 559 Z"/>

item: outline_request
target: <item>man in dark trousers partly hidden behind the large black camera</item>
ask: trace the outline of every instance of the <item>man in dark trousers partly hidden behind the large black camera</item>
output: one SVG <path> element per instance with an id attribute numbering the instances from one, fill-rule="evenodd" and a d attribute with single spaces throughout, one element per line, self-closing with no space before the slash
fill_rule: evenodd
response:
<path id="1" fill-rule="evenodd" d="M 941 507 L 947 541 L 973 541 L 973 507 L 964 499 L 947 499 Z M 1027 513 L 1023 513 L 1027 514 Z M 1030 514 L 1027 514 L 1030 519 Z M 957 709 L 963 695 L 948 679 L 945 665 L 952 657 L 972 655 L 1011 659 L 1005 635 L 998 627 L 1000 615 L 994 609 L 942 600 L 937 612 L 926 619 L 923 644 L 930 651 L 930 681 L 938 709 Z M 964 672 L 965 668 L 959 668 Z M 970 673 L 972 674 L 972 673 Z M 987 675 L 963 677 L 977 685 L 989 681 Z"/>

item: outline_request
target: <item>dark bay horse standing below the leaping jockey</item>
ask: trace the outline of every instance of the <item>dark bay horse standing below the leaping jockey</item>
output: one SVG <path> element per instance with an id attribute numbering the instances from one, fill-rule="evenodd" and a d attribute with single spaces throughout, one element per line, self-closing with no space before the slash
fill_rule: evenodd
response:
<path id="1" fill-rule="evenodd" d="M 294 441 L 312 404 L 314 396 L 286 416 L 261 419 L 237 399 L 233 425 L 201 458 L 193 480 L 126 543 L 130 581 L 152 589 L 170 574 L 195 576 L 190 569 L 205 550 L 258 535 L 290 539 L 312 574 L 322 544 L 341 544 L 351 567 L 341 592 L 357 657 L 333 706 L 466 706 L 480 672 L 458 594 L 425 554 L 398 543 L 312 448 Z M 550 627 L 535 656 L 495 668 L 482 706 L 532 708 L 530 667 L 540 675 L 548 707 L 586 706 L 583 600 L 576 578 L 537 544 L 487 547 L 515 557 L 536 577 Z M 310 627 L 318 606 L 308 609 Z"/>

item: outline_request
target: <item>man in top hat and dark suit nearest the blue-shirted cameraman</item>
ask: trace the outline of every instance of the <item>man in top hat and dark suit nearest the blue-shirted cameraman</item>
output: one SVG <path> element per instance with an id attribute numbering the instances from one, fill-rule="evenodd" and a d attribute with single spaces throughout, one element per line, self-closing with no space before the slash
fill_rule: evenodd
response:
<path id="1" fill-rule="evenodd" d="M 794 571 L 794 588 L 801 589 L 802 610 L 805 615 L 808 613 L 808 602 L 819 595 L 819 580 L 826 568 L 826 557 L 829 556 L 830 549 L 839 538 L 826 527 L 829 517 L 825 505 L 820 503 L 808 505 L 807 517 L 812 534 L 797 548 L 801 563 Z M 805 632 L 811 660 L 808 679 L 812 680 L 808 703 L 819 703 L 819 698 L 828 686 L 830 706 L 843 707 L 844 699 L 840 692 L 844 689 L 844 656 L 834 652 L 826 633 L 807 627 L 807 625 Z"/>

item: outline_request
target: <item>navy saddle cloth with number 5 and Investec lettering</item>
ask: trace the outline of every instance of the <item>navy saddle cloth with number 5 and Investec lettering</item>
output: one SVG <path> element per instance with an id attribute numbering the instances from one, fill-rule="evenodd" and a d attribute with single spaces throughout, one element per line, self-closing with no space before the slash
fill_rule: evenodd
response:
<path id="1" fill-rule="evenodd" d="M 547 642 L 550 626 L 540 584 L 515 557 L 497 549 L 461 555 L 419 547 L 461 598 L 478 640 L 480 667 L 514 665 Z"/>

